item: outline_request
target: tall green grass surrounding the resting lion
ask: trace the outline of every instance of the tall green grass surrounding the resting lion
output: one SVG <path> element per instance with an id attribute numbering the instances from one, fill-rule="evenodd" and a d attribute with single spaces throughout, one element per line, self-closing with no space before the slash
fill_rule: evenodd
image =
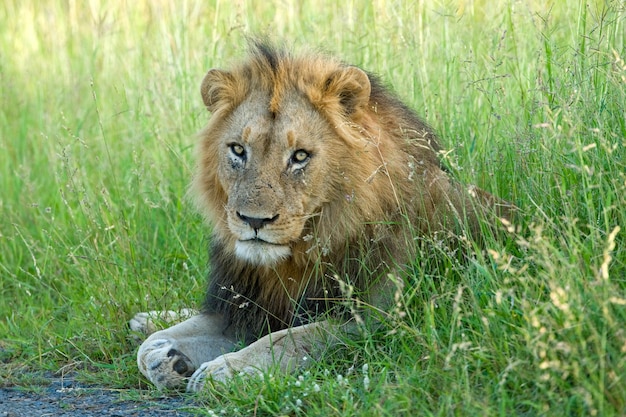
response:
<path id="1" fill-rule="evenodd" d="M 202 297 L 206 227 L 184 197 L 199 84 L 269 33 L 379 73 L 462 181 L 527 218 L 516 245 L 418 259 L 388 328 L 304 374 L 207 392 L 198 411 L 626 414 L 625 7 L 5 0 L 0 385 L 78 371 L 155 394 L 126 323 Z"/>

